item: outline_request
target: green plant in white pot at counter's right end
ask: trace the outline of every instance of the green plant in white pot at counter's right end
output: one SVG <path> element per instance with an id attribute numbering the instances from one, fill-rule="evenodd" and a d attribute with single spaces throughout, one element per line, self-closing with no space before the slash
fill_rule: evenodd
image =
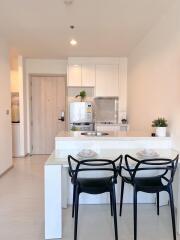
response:
<path id="1" fill-rule="evenodd" d="M 168 122 L 165 118 L 158 118 L 152 122 L 152 127 L 156 128 L 156 136 L 157 137 L 165 137 L 166 136 L 167 126 L 168 126 Z"/>

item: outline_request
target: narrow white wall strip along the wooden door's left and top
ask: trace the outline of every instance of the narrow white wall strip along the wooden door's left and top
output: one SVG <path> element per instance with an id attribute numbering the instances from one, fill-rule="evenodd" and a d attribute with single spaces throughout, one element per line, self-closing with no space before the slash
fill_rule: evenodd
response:
<path id="1" fill-rule="evenodd" d="M 66 75 L 67 74 L 67 60 L 58 60 L 58 59 L 25 59 L 24 61 L 24 85 L 26 88 L 26 110 L 27 110 L 27 119 L 25 132 L 27 133 L 27 153 L 31 152 L 30 145 L 30 88 L 29 88 L 29 79 L 32 74 L 52 74 L 52 75 Z"/>

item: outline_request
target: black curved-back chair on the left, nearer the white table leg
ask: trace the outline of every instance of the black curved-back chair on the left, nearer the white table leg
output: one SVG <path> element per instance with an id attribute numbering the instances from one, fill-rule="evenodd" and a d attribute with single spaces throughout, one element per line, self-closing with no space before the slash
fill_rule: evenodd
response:
<path id="1" fill-rule="evenodd" d="M 108 159 L 88 159 L 78 161 L 72 156 L 68 156 L 69 175 L 73 184 L 73 207 L 72 217 L 75 213 L 74 240 L 77 239 L 78 209 L 80 193 L 102 194 L 110 193 L 111 215 L 114 216 L 115 240 L 118 240 L 117 214 L 116 214 L 116 194 L 115 184 L 117 183 L 118 172 L 115 163 L 122 159 L 122 155 L 115 160 Z M 75 164 L 75 167 L 73 167 Z M 80 173 L 89 174 L 92 171 L 108 173 L 109 176 L 100 177 L 80 177 Z M 89 173 L 88 173 L 89 172 Z"/>

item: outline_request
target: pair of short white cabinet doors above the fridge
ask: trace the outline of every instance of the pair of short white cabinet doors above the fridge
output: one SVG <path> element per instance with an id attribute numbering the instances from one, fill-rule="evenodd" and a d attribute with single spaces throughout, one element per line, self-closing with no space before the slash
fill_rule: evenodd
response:
<path id="1" fill-rule="evenodd" d="M 95 65 L 68 65 L 67 84 L 69 87 L 95 87 Z"/>

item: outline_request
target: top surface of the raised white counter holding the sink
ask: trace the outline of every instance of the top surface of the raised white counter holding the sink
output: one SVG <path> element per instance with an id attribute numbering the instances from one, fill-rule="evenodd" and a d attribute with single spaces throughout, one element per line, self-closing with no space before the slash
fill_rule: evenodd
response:
<path id="1" fill-rule="evenodd" d="M 108 132 L 109 135 L 105 136 L 84 136 L 81 135 L 79 131 L 62 131 L 59 132 L 56 136 L 57 140 L 110 140 L 110 139 L 117 139 L 117 140 L 130 140 L 130 139 L 167 139 L 169 140 L 170 137 L 152 137 L 150 132 L 141 132 L 141 131 L 113 131 Z"/>

